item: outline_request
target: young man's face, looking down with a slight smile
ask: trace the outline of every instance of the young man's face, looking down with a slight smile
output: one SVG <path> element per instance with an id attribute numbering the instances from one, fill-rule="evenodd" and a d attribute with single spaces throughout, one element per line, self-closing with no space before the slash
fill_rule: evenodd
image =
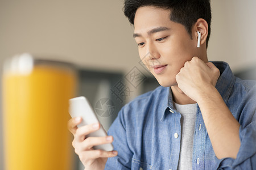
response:
<path id="1" fill-rule="evenodd" d="M 134 19 L 134 37 L 144 65 L 164 87 L 175 86 L 175 76 L 198 53 L 182 24 L 170 20 L 170 10 L 144 6 Z"/>

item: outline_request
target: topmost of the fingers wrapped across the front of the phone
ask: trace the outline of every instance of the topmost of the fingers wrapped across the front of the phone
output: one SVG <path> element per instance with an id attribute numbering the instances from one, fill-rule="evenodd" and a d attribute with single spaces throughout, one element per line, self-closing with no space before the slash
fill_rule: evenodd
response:
<path id="1" fill-rule="evenodd" d="M 84 141 L 86 135 L 92 133 L 93 131 L 97 131 L 98 129 L 100 129 L 100 124 L 98 122 L 96 124 L 81 126 L 76 130 L 74 140 L 77 142 L 82 142 Z"/>

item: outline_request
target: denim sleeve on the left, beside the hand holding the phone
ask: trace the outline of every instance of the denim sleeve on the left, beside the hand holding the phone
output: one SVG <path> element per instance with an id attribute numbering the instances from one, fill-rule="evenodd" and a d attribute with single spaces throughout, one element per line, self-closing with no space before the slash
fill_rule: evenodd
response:
<path id="1" fill-rule="evenodd" d="M 113 135 L 114 141 L 112 144 L 114 146 L 114 150 L 118 151 L 118 155 L 108 158 L 105 169 L 131 169 L 131 158 L 133 154 L 127 145 L 126 124 L 123 115 L 123 108 L 118 113 L 113 124 L 110 126 L 108 135 Z"/>

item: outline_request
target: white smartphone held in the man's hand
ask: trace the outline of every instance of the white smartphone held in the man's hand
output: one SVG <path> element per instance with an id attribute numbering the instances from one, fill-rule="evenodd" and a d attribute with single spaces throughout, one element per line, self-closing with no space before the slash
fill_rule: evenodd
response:
<path id="1" fill-rule="evenodd" d="M 80 128 L 81 126 L 100 122 L 98 121 L 98 118 L 95 112 L 93 111 L 93 108 L 90 105 L 89 101 L 84 96 L 69 99 L 69 114 L 71 115 L 71 117 L 82 117 L 82 122 L 79 125 L 77 125 L 78 128 Z M 86 135 L 86 137 L 105 137 L 106 135 L 108 134 L 101 126 L 99 130 Z M 105 151 L 114 150 L 112 143 L 97 145 L 94 146 L 93 148 L 95 150 L 101 149 Z"/>

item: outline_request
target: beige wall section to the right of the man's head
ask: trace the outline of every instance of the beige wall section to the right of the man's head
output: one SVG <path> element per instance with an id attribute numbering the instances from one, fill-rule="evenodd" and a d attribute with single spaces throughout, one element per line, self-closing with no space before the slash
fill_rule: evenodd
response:
<path id="1" fill-rule="evenodd" d="M 256 66 L 256 1 L 212 0 L 208 58 L 226 61 L 233 71 Z"/>

